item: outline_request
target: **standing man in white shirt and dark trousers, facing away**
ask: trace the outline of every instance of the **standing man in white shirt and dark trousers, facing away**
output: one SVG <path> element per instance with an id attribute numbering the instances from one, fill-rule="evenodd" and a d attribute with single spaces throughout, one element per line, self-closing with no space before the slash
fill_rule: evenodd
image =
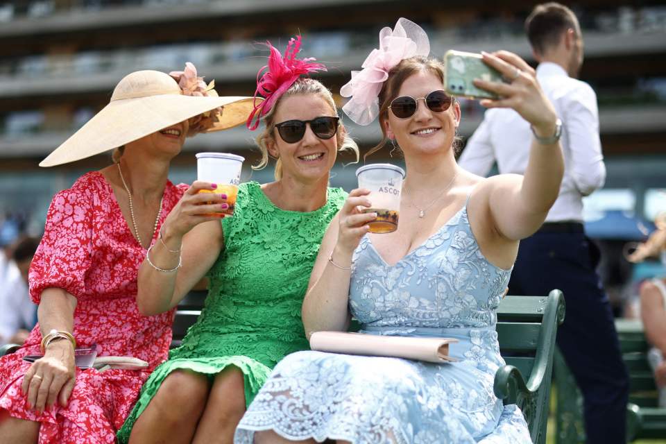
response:
<path id="1" fill-rule="evenodd" d="M 608 297 L 595 272 L 599 250 L 583 232 L 582 197 L 604 185 L 597 96 L 577 80 L 583 38 L 574 13 L 559 3 L 534 8 L 525 28 L 539 62 L 536 76 L 562 125 L 565 173 L 543 227 L 520 241 L 509 294 L 547 295 L 561 289 L 565 322 L 557 343 L 585 399 L 588 443 L 624 443 L 629 379 Z M 513 110 L 491 109 L 470 137 L 459 164 L 486 176 L 524 173 L 533 135 Z"/>

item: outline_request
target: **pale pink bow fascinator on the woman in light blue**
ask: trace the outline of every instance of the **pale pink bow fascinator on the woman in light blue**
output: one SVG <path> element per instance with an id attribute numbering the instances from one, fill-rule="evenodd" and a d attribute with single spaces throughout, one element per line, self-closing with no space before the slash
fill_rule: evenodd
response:
<path id="1" fill-rule="evenodd" d="M 351 97 L 342 110 L 352 121 L 368 125 L 379 114 L 379 92 L 391 71 L 400 61 L 413 56 L 428 56 L 430 42 L 416 23 L 400 18 L 391 30 L 379 31 L 379 49 L 373 49 L 361 71 L 352 71 L 352 80 L 343 85 L 340 95 Z"/>

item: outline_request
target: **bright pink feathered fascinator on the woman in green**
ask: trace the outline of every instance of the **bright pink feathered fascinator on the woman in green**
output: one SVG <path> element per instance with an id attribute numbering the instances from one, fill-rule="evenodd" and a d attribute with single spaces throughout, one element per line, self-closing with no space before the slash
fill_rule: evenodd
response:
<path id="1" fill-rule="evenodd" d="M 300 40 L 300 35 L 289 40 L 284 56 L 271 42 L 266 42 L 271 54 L 268 56 L 268 65 L 257 73 L 254 108 L 246 123 L 250 130 L 257 129 L 261 118 L 271 111 L 275 102 L 300 76 L 313 71 L 326 71 L 323 64 L 314 62 L 315 58 L 296 58 L 300 51 Z M 257 96 L 263 96 L 265 100 L 257 104 Z"/>

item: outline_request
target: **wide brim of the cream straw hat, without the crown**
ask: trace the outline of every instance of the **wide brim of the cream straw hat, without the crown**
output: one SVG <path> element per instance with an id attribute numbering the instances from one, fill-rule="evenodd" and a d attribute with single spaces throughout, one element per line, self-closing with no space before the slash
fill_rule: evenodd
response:
<path id="1" fill-rule="evenodd" d="M 42 160 L 40 167 L 54 167 L 103 153 L 220 106 L 223 111 L 219 122 L 207 132 L 233 128 L 246 122 L 253 103 L 253 97 L 180 94 L 112 101 Z"/>

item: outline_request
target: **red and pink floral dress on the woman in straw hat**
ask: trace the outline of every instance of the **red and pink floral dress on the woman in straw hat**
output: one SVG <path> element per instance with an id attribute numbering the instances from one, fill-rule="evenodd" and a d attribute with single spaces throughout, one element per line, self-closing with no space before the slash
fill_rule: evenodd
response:
<path id="1" fill-rule="evenodd" d="M 167 182 L 160 225 L 185 189 L 187 185 Z M 101 173 L 85 174 L 53 198 L 30 269 L 33 301 L 38 304 L 47 287 L 67 290 L 77 300 L 74 336 L 79 347 L 96 343 L 99 356 L 133 356 L 150 367 L 102 373 L 77 368 L 67 407 L 56 402 L 38 414 L 28 409 L 21 391 L 30 366 L 21 358 L 40 353 L 37 325 L 24 347 L 0 359 L 0 409 L 41 422 L 39 443 L 114 443 L 142 384 L 167 359 L 173 310 L 142 316 L 135 300 L 137 271 L 145 255 Z"/>

